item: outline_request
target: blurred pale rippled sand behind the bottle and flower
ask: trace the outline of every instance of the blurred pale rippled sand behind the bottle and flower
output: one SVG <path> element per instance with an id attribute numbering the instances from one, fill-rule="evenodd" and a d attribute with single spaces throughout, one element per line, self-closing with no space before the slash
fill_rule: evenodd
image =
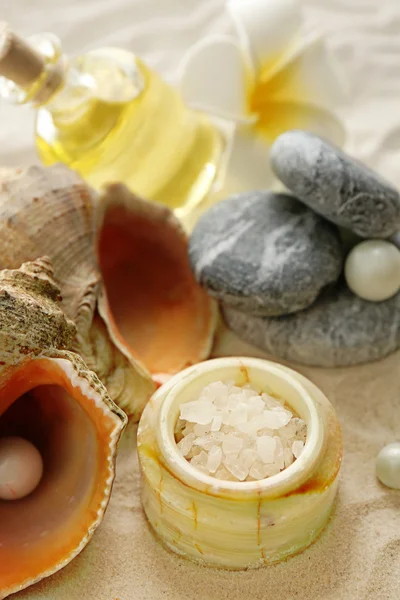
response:
<path id="1" fill-rule="evenodd" d="M 349 74 L 340 108 L 348 148 L 400 185 L 399 0 L 303 0 Z M 210 32 L 229 32 L 223 0 L 0 0 L 0 19 L 23 34 L 53 31 L 67 53 L 119 45 L 142 56 L 170 81 L 185 50 Z M 36 159 L 33 114 L 0 107 L 0 164 Z"/>

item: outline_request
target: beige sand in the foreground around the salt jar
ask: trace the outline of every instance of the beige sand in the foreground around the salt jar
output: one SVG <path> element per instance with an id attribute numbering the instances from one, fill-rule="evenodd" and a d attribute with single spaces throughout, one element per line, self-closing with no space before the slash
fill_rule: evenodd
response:
<path id="1" fill-rule="evenodd" d="M 221 332 L 215 354 L 260 355 Z M 177 558 L 140 504 L 136 426 L 129 425 L 106 518 L 82 554 L 15 600 L 398 600 L 400 492 L 375 478 L 375 456 L 400 432 L 400 354 L 350 369 L 301 368 L 335 406 L 344 461 L 332 520 L 308 550 L 277 566 L 224 572 Z"/>

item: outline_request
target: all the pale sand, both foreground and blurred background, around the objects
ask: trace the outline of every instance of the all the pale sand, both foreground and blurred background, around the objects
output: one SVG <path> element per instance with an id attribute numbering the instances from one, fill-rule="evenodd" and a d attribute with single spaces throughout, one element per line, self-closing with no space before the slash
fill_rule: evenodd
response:
<path id="1" fill-rule="evenodd" d="M 304 0 L 327 32 L 351 83 L 340 114 L 348 149 L 400 186 L 399 0 Z M 0 0 L 0 18 L 23 33 L 50 30 L 69 53 L 120 45 L 174 80 L 179 58 L 207 32 L 228 32 L 222 0 Z M 36 162 L 33 115 L 0 107 L 0 164 Z M 260 355 L 221 332 L 216 355 Z M 136 428 L 130 426 L 105 521 L 64 571 L 17 600 L 399 600 L 400 492 L 380 486 L 374 459 L 400 439 L 396 354 L 367 367 L 299 368 L 330 398 L 345 457 L 334 519 L 319 541 L 287 563 L 257 572 L 199 568 L 163 550 L 141 511 Z"/>

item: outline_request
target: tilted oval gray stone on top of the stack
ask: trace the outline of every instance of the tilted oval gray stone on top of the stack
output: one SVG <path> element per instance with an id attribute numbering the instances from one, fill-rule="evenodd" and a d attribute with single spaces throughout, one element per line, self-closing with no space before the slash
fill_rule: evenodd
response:
<path id="1" fill-rule="evenodd" d="M 311 133 L 288 131 L 271 150 L 271 165 L 302 202 L 363 237 L 400 228 L 400 196 L 377 173 Z"/>

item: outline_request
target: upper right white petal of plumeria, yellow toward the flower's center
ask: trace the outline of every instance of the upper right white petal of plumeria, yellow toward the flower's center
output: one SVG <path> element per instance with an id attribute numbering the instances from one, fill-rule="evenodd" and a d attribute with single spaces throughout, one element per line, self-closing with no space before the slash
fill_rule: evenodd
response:
<path id="1" fill-rule="evenodd" d="M 299 41 L 275 70 L 266 69 L 259 74 L 250 104 L 253 110 L 260 110 L 264 98 L 273 102 L 310 103 L 330 109 L 343 101 L 346 91 L 345 77 L 325 40 L 312 35 Z"/>

